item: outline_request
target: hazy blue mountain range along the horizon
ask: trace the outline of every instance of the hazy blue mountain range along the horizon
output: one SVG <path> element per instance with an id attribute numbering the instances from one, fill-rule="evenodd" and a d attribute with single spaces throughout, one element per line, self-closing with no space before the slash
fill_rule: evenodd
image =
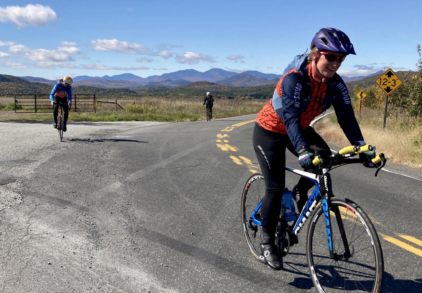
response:
<path id="1" fill-rule="evenodd" d="M 381 74 L 384 71 L 369 74 L 373 76 Z M 40 82 L 44 84 L 55 84 L 57 81 L 43 79 L 41 77 L 19 76 L 21 79 Z M 196 71 L 195 69 L 179 70 L 171 73 L 164 73 L 162 75 L 153 75 L 146 78 L 136 76 L 132 73 L 123 73 L 114 76 L 75 76 L 73 78 L 73 85 L 92 86 L 100 88 L 126 88 L 126 89 L 142 89 L 151 86 L 163 87 L 179 87 L 195 81 L 209 81 L 216 84 L 229 85 L 235 87 L 256 87 L 266 84 L 276 84 L 281 75 L 273 73 L 262 73 L 260 71 L 244 71 L 242 73 L 235 73 L 232 71 L 225 71 L 220 68 L 212 68 L 205 72 Z M 341 76 L 344 82 L 357 81 L 367 76 Z"/>

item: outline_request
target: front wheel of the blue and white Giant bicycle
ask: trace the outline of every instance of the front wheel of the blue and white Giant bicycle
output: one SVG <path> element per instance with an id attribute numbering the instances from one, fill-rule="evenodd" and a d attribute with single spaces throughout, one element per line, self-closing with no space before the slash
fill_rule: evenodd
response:
<path id="1" fill-rule="evenodd" d="M 345 245 L 340 236 L 335 209 L 339 210 L 343 219 L 343 231 L 351 252 L 349 257 L 341 254 Z M 306 258 L 317 292 L 380 292 L 384 258 L 381 243 L 368 215 L 353 201 L 335 197 L 331 198 L 330 215 L 331 241 L 338 254 L 337 259 L 330 258 L 321 206 L 311 216 L 306 235 Z"/>

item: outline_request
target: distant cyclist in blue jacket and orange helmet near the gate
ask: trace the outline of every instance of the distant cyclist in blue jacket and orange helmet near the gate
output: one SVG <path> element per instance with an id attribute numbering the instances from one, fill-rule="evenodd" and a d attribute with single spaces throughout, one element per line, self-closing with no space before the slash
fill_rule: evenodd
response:
<path id="1" fill-rule="evenodd" d="M 57 128 L 57 116 L 59 115 L 58 103 L 63 103 L 63 111 L 65 112 L 65 123 L 63 125 L 63 131 L 66 131 L 66 122 L 68 121 L 69 117 L 69 108 L 72 107 L 71 84 L 73 84 L 73 79 L 70 76 L 65 76 L 54 85 L 50 93 L 51 106 L 53 106 L 54 128 Z"/>

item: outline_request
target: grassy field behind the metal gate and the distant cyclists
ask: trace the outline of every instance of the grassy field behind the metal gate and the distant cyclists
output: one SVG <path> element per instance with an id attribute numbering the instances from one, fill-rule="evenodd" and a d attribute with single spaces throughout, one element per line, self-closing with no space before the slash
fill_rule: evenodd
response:
<path id="1" fill-rule="evenodd" d="M 5 103 L 9 100 L 2 98 Z M 0 99 L 0 103 L 2 103 Z M 97 99 L 106 102 L 115 102 L 111 99 Z M 14 109 L 14 99 L 10 98 Z M 202 99 L 189 98 L 133 98 L 119 99 L 117 103 L 123 107 L 111 103 L 96 103 L 96 113 L 70 111 L 69 121 L 161 121 L 161 122 L 182 122 L 197 121 L 206 119 L 205 106 Z M 78 104 L 79 105 L 79 104 Z M 216 99 L 214 100 L 213 118 L 234 117 L 246 114 L 254 114 L 262 108 L 261 100 L 257 99 Z M 10 108 L 10 107 L 8 107 Z M 11 109 L 8 109 L 11 110 Z M 49 110 L 51 111 L 51 110 Z M 7 111 L 0 111 L 0 119 L 18 119 L 32 121 L 50 121 L 51 113 L 14 114 Z"/>

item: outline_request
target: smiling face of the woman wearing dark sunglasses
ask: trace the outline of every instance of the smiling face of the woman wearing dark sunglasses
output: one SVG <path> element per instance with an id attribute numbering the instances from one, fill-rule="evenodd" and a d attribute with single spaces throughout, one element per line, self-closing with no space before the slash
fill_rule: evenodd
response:
<path id="1" fill-rule="evenodd" d="M 314 55 L 312 70 L 320 78 L 333 77 L 334 73 L 340 68 L 345 55 L 336 52 L 321 52 L 318 57 Z M 318 70 L 316 70 L 318 69 Z"/>

